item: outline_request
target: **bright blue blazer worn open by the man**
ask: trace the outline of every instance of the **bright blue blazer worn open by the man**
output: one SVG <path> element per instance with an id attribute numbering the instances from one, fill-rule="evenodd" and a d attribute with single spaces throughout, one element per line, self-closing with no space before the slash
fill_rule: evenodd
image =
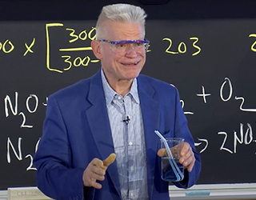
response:
<path id="1" fill-rule="evenodd" d="M 159 138 L 182 137 L 192 147 L 196 162 L 192 172 L 185 172 L 178 187 L 188 188 L 197 181 L 201 170 L 200 155 L 183 114 L 178 90 L 166 82 L 138 76 L 138 95 L 144 122 L 147 180 L 150 199 L 169 200 L 168 182 L 161 179 L 157 156 Z M 59 90 L 48 98 L 42 138 L 34 156 L 37 185 L 54 199 L 120 200 L 116 161 L 106 170 L 100 182 L 102 189 L 83 186 L 82 174 L 93 158 L 104 160 L 114 153 L 106 100 L 100 70 L 91 78 Z"/>

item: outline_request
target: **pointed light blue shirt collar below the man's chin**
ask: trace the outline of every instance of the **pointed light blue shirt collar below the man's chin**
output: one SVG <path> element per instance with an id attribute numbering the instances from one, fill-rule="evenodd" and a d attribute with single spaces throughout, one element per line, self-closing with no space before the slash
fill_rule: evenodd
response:
<path id="1" fill-rule="evenodd" d="M 108 106 L 112 102 L 114 96 L 119 94 L 117 94 L 110 87 L 109 83 L 106 81 L 106 77 L 105 77 L 105 74 L 103 73 L 103 70 L 101 70 L 101 75 L 102 75 L 102 86 L 103 86 L 103 90 L 106 98 L 106 105 Z M 134 98 L 134 101 L 139 104 L 137 78 L 134 78 L 134 81 L 130 87 L 130 91 L 126 95 L 128 94 L 130 94 L 132 98 Z"/>

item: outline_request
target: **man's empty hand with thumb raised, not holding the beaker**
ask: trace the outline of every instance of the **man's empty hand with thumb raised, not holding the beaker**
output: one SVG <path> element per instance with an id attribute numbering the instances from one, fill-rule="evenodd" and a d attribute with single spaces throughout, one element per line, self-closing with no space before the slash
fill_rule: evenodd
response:
<path id="1" fill-rule="evenodd" d="M 96 181 L 103 181 L 105 179 L 107 167 L 114 162 L 116 154 L 110 154 L 104 161 L 94 158 L 86 167 L 82 175 L 84 186 L 101 189 L 102 185 Z"/>

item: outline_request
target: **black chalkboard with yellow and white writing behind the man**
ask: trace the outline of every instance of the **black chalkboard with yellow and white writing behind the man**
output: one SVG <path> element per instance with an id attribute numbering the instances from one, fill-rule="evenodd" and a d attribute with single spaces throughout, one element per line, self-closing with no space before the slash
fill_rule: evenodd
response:
<path id="1" fill-rule="evenodd" d="M 47 97 L 98 71 L 90 41 L 114 2 L 0 2 L 0 190 L 36 186 Z M 178 88 L 202 156 L 197 183 L 255 182 L 256 2 L 122 2 L 148 14 L 142 74 Z"/>

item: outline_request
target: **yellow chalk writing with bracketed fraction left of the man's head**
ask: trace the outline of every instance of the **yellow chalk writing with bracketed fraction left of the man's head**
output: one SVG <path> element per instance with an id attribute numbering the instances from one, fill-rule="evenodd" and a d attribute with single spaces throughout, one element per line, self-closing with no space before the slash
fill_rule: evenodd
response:
<path id="1" fill-rule="evenodd" d="M 72 67 L 79 67 L 79 66 L 89 66 L 90 63 L 97 63 L 99 62 L 98 59 L 90 58 L 89 55 L 85 55 L 83 57 L 76 56 L 72 57 L 70 55 L 70 52 L 78 52 L 78 51 L 92 51 L 90 46 L 78 46 L 78 47 L 59 47 L 58 51 L 62 53 L 62 62 L 64 62 L 65 66 L 63 69 L 58 69 L 56 66 L 52 66 L 50 63 L 50 56 L 51 56 L 51 41 L 54 40 L 54 38 L 50 37 L 50 33 L 54 31 L 54 29 L 62 29 L 63 34 L 68 34 L 69 43 L 74 42 L 84 42 L 86 40 L 92 41 L 96 37 L 96 29 L 94 27 L 91 27 L 89 31 L 82 30 L 79 33 L 77 33 L 76 30 L 70 27 L 65 27 L 63 23 L 47 23 L 45 25 L 46 30 L 46 68 L 47 70 L 63 73 L 64 71 L 70 70 Z M 42 39 L 42 38 L 40 38 Z M 56 39 L 56 38 L 55 38 Z M 25 57 L 27 54 L 34 54 L 34 46 L 36 46 L 36 37 L 32 38 L 31 42 L 24 42 L 24 52 L 22 53 L 23 57 Z M 4 54 L 10 54 L 14 52 L 15 50 L 15 44 L 14 42 L 6 38 L 3 40 L 3 42 L 0 40 L 0 53 Z M 19 49 L 20 50 L 20 49 Z M 59 64 L 62 66 L 62 64 Z"/>

